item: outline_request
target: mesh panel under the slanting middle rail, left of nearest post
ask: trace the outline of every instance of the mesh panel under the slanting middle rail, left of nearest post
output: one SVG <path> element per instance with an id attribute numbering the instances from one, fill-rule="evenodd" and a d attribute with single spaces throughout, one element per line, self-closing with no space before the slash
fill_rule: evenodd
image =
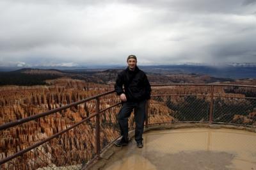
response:
<path id="1" fill-rule="evenodd" d="M 81 169 L 95 157 L 94 118 L 1 165 L 3 169 Z"/>

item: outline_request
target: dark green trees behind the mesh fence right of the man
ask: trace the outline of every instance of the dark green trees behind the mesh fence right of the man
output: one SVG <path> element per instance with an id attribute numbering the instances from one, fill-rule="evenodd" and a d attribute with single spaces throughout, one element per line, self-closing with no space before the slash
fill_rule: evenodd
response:
<path id="1" fill-rule="evenodd" d="M 210 102 L 205 98 L 195 96 L 184 97 L 183 102 L 172 102 L 172 97 L 167 97 L 166 105 L 172 109 L 172 116 L 178 121 L 209 121 Z M 255 111 L 256 101 L 237 98 L 215 98 L 213 107 L 213 121 L 234 123 L 234 116 L 248 116 Z M 246 123 L 252 125 L 256 120 Z M 243 123 L 241 123 L 243 124 Z"/>

